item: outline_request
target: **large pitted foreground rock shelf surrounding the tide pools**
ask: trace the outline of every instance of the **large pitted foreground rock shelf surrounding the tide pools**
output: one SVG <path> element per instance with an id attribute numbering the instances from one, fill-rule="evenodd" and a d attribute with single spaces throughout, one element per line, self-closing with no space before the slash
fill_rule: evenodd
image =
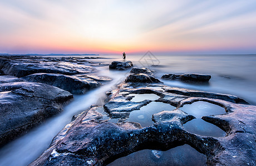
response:
<path id="1" fill-rule="evenodd" d="M 175 109 L 153 114 L 151 121 L 154 124 L 142 128 L 137 122 L 128 122 L 127 118 L 132 111 L 152 100 L 134 102 L 130 94 L 155 94 L 160 96 L 155 102 L 168 103 Z M 233 95 L 206 94 L 152 82 L 125 81 L 117 90 L 107 93 L 109 97 L 104 105 L 107 115 L 102 114 L 103 107 L 93 106 L 75 116 L 57 134 L 51 146 L 30 165 L 106 165 L 142 149 L 166 151 L 183 144 L 189 144 L 204 154 L 208 165 L 255 165 L 256 106 L 244 105 L 242 99 Z M 201 117 L 223 129 L 226 132 L 224 137 L 185 131 L 183 125 L 195 117 L 181 109 L 196 101 L 207 101 L 225 108 L 223 115 Z M 118 121 L 111 123 L 112 119 Z"/>

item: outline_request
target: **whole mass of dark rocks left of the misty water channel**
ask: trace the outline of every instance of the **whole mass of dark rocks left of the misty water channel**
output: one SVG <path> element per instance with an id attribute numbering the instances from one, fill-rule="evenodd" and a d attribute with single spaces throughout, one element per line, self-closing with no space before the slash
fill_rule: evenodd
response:
<path id="1" fill-rule="evenodd" d="M 92 75 L 88 59 L 97 58 L 0 56 L 0 147 L 62 112 L 72 94 L 111 80 Z"/>

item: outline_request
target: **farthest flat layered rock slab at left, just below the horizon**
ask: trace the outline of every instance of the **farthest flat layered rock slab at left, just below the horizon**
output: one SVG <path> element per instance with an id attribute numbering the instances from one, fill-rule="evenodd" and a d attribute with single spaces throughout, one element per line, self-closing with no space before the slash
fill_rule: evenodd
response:
<path id="1" fill-rule="evenodd" d="M 81 65 L 77 58 L 50 58 L 40 56 L 1 56 L 0 70 L 4 75 L 23 77 L 39 72 L 73 75 L 95 71 L 91 66 Z"/>

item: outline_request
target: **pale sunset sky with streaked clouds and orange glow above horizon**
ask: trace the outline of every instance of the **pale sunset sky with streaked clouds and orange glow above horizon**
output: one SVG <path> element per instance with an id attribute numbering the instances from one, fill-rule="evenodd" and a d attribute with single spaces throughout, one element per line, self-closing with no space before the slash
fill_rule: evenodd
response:
<path id="1" fill-rule="evenodd" d="M 256 54 L 256 1 L 0 1 L 0 53 L 148 50 Z"/>

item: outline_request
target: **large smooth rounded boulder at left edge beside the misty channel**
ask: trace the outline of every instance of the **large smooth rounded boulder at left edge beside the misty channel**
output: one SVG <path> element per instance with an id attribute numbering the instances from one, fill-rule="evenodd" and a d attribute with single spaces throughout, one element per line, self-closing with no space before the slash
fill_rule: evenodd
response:
<path id="1" fill-rule="evenodd" d="M 0 84 L 0 146 L 61 112 L 62 103 L 73 97 L 54 86 L 1 76 L 4 78 L 8 82 Z"/>

